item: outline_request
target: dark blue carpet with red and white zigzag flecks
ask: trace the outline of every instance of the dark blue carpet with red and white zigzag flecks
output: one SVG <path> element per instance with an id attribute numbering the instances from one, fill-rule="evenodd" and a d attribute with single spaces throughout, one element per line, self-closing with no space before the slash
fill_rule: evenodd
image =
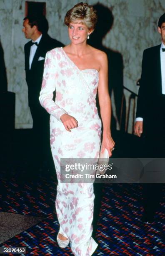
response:
<path id="1" fill-rule="evenodd" d="M 2 243 L 1 247 L 26 247 L 27 256 L 72 255 L 70 247 L 61 249 L 56 242 L 59 226 L 54 207 L 54 177 L 40 176 L 37 182 L 23 184 L 14 176 L 9 181 L 1 174 L 0 186 L 0 211 L 45 217 L 37 225 Z M 141 192 L 139 184 L 104 185 L 95 236 L 98 247 L 93 255 L 165 255 L 165 204 L 161 202 L 154 225 L 143 225 L 140 220 L 143 213 Z M 99 196 L 97 188 L 96 201 Z"/>

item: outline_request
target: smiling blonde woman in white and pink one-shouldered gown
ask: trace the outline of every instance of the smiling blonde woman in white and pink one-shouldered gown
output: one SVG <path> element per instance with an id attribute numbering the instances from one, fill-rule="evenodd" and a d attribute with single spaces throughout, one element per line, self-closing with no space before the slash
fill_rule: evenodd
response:
<path id="1" fill-rule="evenodd" d="M 61 183 L 60 159 L 99 157 L 101 120 L 96 108 L 98 89 L 103 124 L 102 151 L 111 156 L 110 96 L 107 56 L 87 44 L 97 15 L 92 6 L 79 3 L 65 16 L 70 44 L 47 52 L 40 103 L 50 113 L 50 145 L 57 172 L 55 202 L 60 230 L 57 242 L 69 242 L 74 255 L 89 256 L 97 248 L 92 236 L 93 184 Z M 55 102 L 52 100 L 56 90 Z"/>

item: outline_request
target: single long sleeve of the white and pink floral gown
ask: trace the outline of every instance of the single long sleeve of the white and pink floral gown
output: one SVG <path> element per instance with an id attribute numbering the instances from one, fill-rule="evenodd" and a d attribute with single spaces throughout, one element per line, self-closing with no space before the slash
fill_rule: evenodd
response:
<path id="1" fill-rule="evenodd" d="M 45 108 L 50 115 L 53 115 L 60 121 L 60 116 L 67 114 L 67 112 L 52 100 L 58 76 L 56 58 L 55 49 L 48 51 L 45 56 L 44 73 L 39 100 L 42 107 Z"/>

